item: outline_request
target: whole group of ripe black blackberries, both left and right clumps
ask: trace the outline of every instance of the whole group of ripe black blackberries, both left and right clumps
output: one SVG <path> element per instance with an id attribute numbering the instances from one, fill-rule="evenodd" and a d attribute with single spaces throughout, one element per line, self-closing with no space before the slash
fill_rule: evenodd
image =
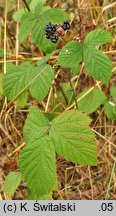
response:
<path id="1" fill-rule="evenodd" d="M 63 22 L 60 29 L 62 29 L 63 31 L 70 29 L 70 23 L 68 21 Z M 51 23 L 48 23 L 45 26 L 46 38 L 50 39 L 51 42 L 53 42 L 53 43 L 58 42 L 58 39 L 59 39 L 58 35 L 61 36 L 58 31 L 57 31 L 58 35 L 55 34 L 56 30 L 57 30 L 56 26 L 51 24 Z"/>

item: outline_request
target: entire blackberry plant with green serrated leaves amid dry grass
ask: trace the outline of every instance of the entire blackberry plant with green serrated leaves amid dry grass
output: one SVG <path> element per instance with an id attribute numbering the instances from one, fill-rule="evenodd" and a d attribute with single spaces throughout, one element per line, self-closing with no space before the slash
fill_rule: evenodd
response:
<path id="1" fill-rule="evenodd" d="M 30 94 L 37 104 L 41 104 L 56 80 L 57 67 L 58 70 L 68 68 L 72 71 L 81 64 L 97 83 L 100 81 L 108 85 L 112 63 L 98 46 L 111 42 L 110 32 L 95 29 L 87 34 L 83 43 L 73 39 L 57 49 L 57 42 L 62 40 L 58 36 L 57 27 L 69 30 L 70 16 L 59 8 L 44 6 L 43 2 L 32 0 L 29 11 L 21 8 L 13 16 L 15 21 L 20 22 L 20 43 L 25 42 L 31 34 L 32 43 L 46 55 L 35 63 L 25 61 L 18 66 L 7 65 L 3 84 L 7 99 L 18 103 Z M 50 64 L 49 59 L 53 55 L 57 55 L 57 62 Z M 79 95 L 75 95 L 72 88 L 68 89 L 66 85 L 60 87 L 67 104 L 64 112 L 49 119 L 42 112 L 41 106 L 29 108 L 23 128 L 26 146 L 19 155 L 20 171 L 10 173 L 4 185 L 9 195 L 14 193 L 23 178 L 29 199 L 50 199 L 52 192 L 58 188 L 56 154 L 73 163 L 97 165 L 95 134 L 90 127 L 88 114 L 100 105 L 109 103 L 107 97 L 97 88 L 97 84 L 95 88 L 85 89 Z M 75 107 L 76 102 L 78 107 Z M 105 109 L 108 114 L 108 104 Z M 11 181 L 14 183 L 12 187 Z"/>

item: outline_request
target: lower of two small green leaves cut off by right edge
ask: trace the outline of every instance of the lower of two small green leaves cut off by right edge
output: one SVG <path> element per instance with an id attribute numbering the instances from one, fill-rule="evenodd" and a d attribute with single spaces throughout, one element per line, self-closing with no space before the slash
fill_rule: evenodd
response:
<path id="1" fill-rule="evenodd" d="M 108 119 L 116 119 L 116 102 L 114 101 L 108 101 L 105 104 L 105 113 L 108 117 Z"/>

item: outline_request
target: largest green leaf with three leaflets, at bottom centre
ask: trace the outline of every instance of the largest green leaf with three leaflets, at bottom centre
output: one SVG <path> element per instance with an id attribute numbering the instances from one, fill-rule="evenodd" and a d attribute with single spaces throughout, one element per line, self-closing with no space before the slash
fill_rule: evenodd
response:
<path id="1" fill-rule="evenodd" d="M 30 109 L 24 126 L 27 145 L 19 157 L 30 199 L 48 199 L 57 188 L 55 151 L 74 163 L 96 165 L 96 145 L 89 123 L 90 118 L 80 111 L 68 111 L 49 122 L 37 108 Z"/>

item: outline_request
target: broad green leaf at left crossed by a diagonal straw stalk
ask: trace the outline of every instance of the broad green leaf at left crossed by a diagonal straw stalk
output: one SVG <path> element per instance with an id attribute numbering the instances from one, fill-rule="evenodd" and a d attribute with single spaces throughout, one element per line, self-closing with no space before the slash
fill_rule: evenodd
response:
<path id="1" fill-rule="evenodd" d="M 9 65 L 10 66 L 10 65 Z M 13 99 L 30 90 L 33 97 L 39 102 L 46 97 L 54 78 L 52 67 L 47 64 L 36 67 L 29 62 L 24 62 L 18 67 L 9 67 L 4 76 L 4 94 L 8 99 Z"/>

